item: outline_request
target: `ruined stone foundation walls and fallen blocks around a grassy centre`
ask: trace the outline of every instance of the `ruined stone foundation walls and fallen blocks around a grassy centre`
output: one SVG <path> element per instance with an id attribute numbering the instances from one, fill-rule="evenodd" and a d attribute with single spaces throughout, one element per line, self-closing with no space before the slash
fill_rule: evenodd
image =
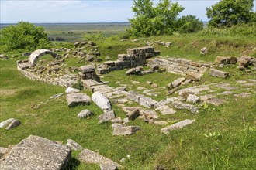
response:
<path id="1" fill-rule="evenodd" d="M 78 51 L 82 50 L 81 45 L 81 42 L 76 43 L 75 46 Z M 45 53 L 45 50 L 42 49 L 41 52 Z M 236 87 L 230 86 L 229 83 L 212 83 L 208 85 L 181 88 L 183 84 L 191 83 L 193 80 L 201 80 L 203 74 L 206 73 L 206 71 L 208 70 L 211 76 L 221 78 L 227 78 L 229 74 L 221 70 L 214 69 L 213 66 L 216 66 L 215 63 L 201 63 L 194 62 L 188 59 L 174 59 L 157 55 L 159 55 L 159 52 L 156 52 L 154 48 L 150 46 L 137 49 L 127 49 L 127 53 L 119 54 L 116 61 L 106 61 L 98 66 L 81 66 L 78 69 L 78 75 L 74 75 L 74 79 L 71 79 L 73 81 L 71 83 L 67 83 L 67 80 L 69 79 L 66 79 L 66 83 L 60 83 L 61 77 L 55 77 L 54 84 L 64 87 L 70 87 L 72 83 L 81 81 L 86 89 L 92 91 L 92 101 L 95 102 L 95 104 L 99 106 L 103 111 L 103 114 L 99 115 L 99 123 L 111 122 L 113 135 L 131 135 L 136 133 L 137 131 L 140 131 L 140 127 L 126 125 L 128 122 L 134 121 L 137 118 L 140 118 L 147 123 L 164 125 L 168 124 L 168 122 L 159 120 L 158 113 L 162 115 L 168 115 L 175 114 L 176 110 L 186 110 L 192 114 L 199 114 L 199 107 L 202 103 L 219 106 L 220 104 L 225 103 L 225 100 L 220 99 L 220 97 L 225 97 L 228 94 L 232 93 L 234 93 L 234 97 L 248 97 L 251 94 L 246 93 L 245 91 L 247 89 L 251 90 L 251 87 L 254 87 L 256 85 L 256 80 L 247 80 L 237 81 Z M 39 54 L 37 59 L 40 56 L 42 55 Z M 151 57 L 153 56 L 157 57 L 151 59 Z M 64 57 L 70 56 L 65 54 Z M 30 58 L 32 57 L 29 57 L 29 59 Z M 250 57 L 240 57 L 240 59 L 236 61 L 235 60 L 236 59 L 232 57 L 217 57 L 216 63 L 237 63 L 239 66 L 244 67 L 256 63 L 255 59 Z M 185 76 L 178 78 L 177 80 L 174 80 L 173 82 L 168 84 L 168 95 L 170 95 L 171 93 L 178 93 L 178 97 L 167 97 L 164 100 L 157 101 L 148 97 L 149 95 L 145 96 L 144 94 L 137 93 L 135 91 L 127 91 L 125 87 L 109 87 L 108 84 L 101 82 L 99 76 L 97 75 L 97 73 L 105 74 L 113 70 L 123 70 L 128 68 L 133 68 L 135 70 L 135 73 L 137 73 L 137 69 L 140 70 L 140 66 L 145 65 L 150 66 L 150 69 L 152 69 L 153 71 L 158 69 L 166 70 L 169 73 L 175 73 L 181 76 Z M 18 62 L 18 70 L 20 70 L 23 74 L 33 80 L 40 80 L 40 77 L 37 78 L 38 76 L 30 71 L 33 66 L 33 60 L 32 62 L 29 60 Z M 126 73 L 126 75 L 129 74 Z M 50 78 L 50 80 L 52 79 L 53 78 Z M 47 80 L 46 82 L 49 83 L 49 80 Z M 221 88 L 227 91 L 224 91 L 222 93 L 214 93 L 214 90 L 216 88 Z M 239 88 L 244 89 L 244 91 L 241 93 L 237 93 L 235 90 Z M 205 92 L 207 92 L 208 94 L 205 94 Z M 69 107 L 75 107 L 78 104 L 90 104 L 90 102 L 91 98 L 88 97 L 85 93 L 67 94 L 67 103 Z M 134 103 L 138 104 L 139 106 L 126 107 L 124 105 L 132 105 Z M 121 117 L 116 117 L 114 110 L 112 110 L 111 104 L 118 104 L 119 107 L 122 107 L 123 111 L 126 113 L 126 118 L 122 119 Z M 92 115 L 93 114 L 90 112 L 90 110 L 82 110 L 78 114 L 78 117 L 85 118 Z M 183 121 L 179 121 L 175 124 L 171 124 L 165 128 L 162 128 L 161 132 L 164 134 L 168 134 L 169 131 L 183 128 L 189 124 L 192 124 L 193 122 L 195 122 L 195 120 L 185 119 Z M 92 155 L 92 157 L 88 155 Z M 101 167 L 105 166 L 102 165 L 102 162 L 110 162 L 114 169 L 120 166 L 116 162 L 112 162 L 108 158 L 104 158 L 101 155 L 98 155 L 95 152 L 89 150 L 82 151 L 79 155 L 79 158 L 82 159 L 81 162 L 100 163 Z"/>

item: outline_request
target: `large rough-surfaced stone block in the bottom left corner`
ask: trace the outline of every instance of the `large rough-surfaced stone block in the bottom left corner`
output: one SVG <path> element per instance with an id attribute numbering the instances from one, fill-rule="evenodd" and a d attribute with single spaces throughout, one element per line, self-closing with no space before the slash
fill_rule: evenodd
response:
<path id="1" fill-rule="evenodd" d="M 0 169 L 66 169 L 70 158 L 64 145 L 30 135 L 0 159 Z"/>

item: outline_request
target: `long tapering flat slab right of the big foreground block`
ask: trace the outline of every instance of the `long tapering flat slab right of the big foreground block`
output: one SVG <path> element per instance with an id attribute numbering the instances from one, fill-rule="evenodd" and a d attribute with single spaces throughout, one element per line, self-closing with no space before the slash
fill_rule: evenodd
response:
<path id="1" fill-rule="evenodd" d="M 122 168 L 121 165 L 119 165 L 116 162 L 113 162 L 111 159 L 106 158 L 102 155 L 97 154 L 94 151 L 84 149 L 81 151 L 81 153 L 78 155 L 78 159 L 81 162 L 89 163 L 89 164 L 110 164 L 110 165 L 116 165 L 119 168 Z"/>

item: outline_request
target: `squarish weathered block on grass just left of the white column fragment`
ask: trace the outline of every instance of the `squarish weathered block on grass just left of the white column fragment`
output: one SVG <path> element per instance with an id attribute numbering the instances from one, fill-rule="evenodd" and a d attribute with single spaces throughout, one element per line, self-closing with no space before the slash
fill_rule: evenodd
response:
<path id="1" fill-rule="evenodd" d="M 91 98 L 85 93 L 68 93 L 66 99 L 68 107 L 75 107 L 78 104 L 90 104 L 91 102 Z"/>

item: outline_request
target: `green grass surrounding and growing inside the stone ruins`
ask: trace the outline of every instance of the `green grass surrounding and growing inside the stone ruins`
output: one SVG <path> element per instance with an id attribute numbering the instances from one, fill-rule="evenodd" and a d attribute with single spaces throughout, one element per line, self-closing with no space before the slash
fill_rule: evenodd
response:
<path id="1" fill-rule="evenodd" d="M 98 32 L 100 29 L 95 30 Z M 53 34 L 70 31 L 72 31 L 71 28 L 61 29 L 61 27 L 47 30 Z M 112 33 L 114 32 L 109 31 L 109 35 Z M 173 46 L 169 48 L 157 44 L 154 46 L 161 51 L 162 56 L 205 62 L 213 62 L 216 56 L 256 56 L 254 39 L 241 36 L 175 34 L 174 36 L 140 39 L 140 42 L 119 42 L 118 39 L 110 38 L 96 42 L 102 54 L 100 58 L 104 61 L 106 56 L 114 60 L 117 59 L 117 54 L 126 53 L 127 48 L 145 46 L 146 41 L 157 40 L 173 43 Z M 54 46 L 61 45 L 54 44 Z M 209 53 L 200 55 L 199 51 L 204 46 L 209 48 Z M 64 144 L 68 138 L 71 138 L 82 147 L 97 151 L 119 162 L 125 169 L 252 170 L 256 167 L 256 87 L 251 88 L 249 91 L 251 96 L 245 99 L 230 94 L 225 98 L 227 103 L 219 107 L 204 104 L 200 107 L 199 114 L 190 114 L 187 110 L 178 110 L 172 115 L 159 114 L 160 119 L 168 121 L 168 124 L 184 119 L 196 120 L 189 127 L 171 131 L 168 135 L 160 133 L 164 126 L 147 124 L 137 119 L 131 121 L 129 125 L 140 126 L 142 128 L 140 131 L 127 137 L 112 136 L 110 123 L 98 124 L 98 116 L 102 114 L 99 107 L 92 103 L 85 107 L 69 108 L 65 95 L 49 100 L 54 94 L 63 93 L 65 88 L 25 78 L 16 69 L 18 59 L 27 59 L 27 57 L 19 56 L 0 61 L 0 122 L 10 117 L 22 122 L 12 131 L 0 129 L 1 147 L 7 148 L 9 145 L 15 145 L 27 138 L 29 134 L 33 134 L 61 141 Z M 72 59 L 69 61 L 70 65 L 74 63 Z M 251 73 L 238 71 L 236 66 L 227 66 L 223 70 L 230 73 L 227 80 L 212 77 L 206 73 L 202 81 L 189 84 L 187 87 L 224 82 L 238 86 L 238 93 L 245 89 L 239 86 L 237 80 L 255 79 L 256 76 L 256 70 L 253 67 L 251 67 Z M 171 73 L 154 73 L 146 76 L 125 76 L 124 73 L 125 70 L 115 71 L 104 75 L 102 80 L 109 81 L 109 86 L 112 87 L 116 87 L 116 81 L 120 81 L 120 83 L 128 84 L 128 90 L 137 90 L 137 87 L 150 88 L 147 81 L 157 83 L 158 87 L 166 87 L 167 83 L 178 78 L 177 75 Z M 131 81 L 139 81 L 140 84 L 132 84 Z M 218 88 L 216 90 L 221 92 Z M 154 99 L 158 101 L 163 99 L 165 92 L 161 89 L 161 94 Z M 83 90 L 83 93 L 92 95 L 87 90 Z M 85 108 L 92 110 L 95 115 L 88 119 L 78 119 L 77 114 Z M 125 117 L 123 110 L 115 104 L 113 108 L 118 117 Z M 126 155 L 130 155 L 130 159 L 126 158 Z M 99 165 L 78 162 L 77 151 L 73 151 L 72 156 L 70 169 L 99 169 Z M 122 158 L 126 158 L 126 161 L 120 162 Z"/>

